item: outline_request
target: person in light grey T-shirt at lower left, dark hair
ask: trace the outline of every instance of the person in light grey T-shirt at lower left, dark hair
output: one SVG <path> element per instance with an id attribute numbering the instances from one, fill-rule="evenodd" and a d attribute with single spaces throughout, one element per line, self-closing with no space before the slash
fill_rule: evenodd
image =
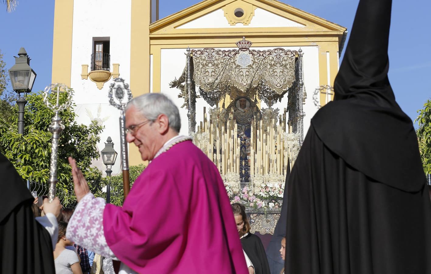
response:
<path id="1" fill-rule="evenodd" d="M 56 274 L 82 274 L 79 258 L 75 252 L 66 249 L 72 242 L 66 238 L 67 223 L 58 223 L 58 239 L 54 250 L 54 265 Z"/>

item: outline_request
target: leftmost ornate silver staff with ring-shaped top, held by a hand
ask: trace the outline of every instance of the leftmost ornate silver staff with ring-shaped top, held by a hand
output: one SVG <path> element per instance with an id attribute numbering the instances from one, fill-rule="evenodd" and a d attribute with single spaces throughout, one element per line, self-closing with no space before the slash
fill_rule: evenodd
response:
<path id="1" fill-rule="evenodd" d="M 57 93 L 56 104 L 51 104 L 49 101 L 50 91 Z M 67 98 L 64 104 L 59 103 L 60 92 L 66 92 Z M 55 197 L 57 180 L 57 157 L 58 157 L 58 139 L 61 132 L 63 132 L 64 125 L 62 123 L 61 117 L 58 115 L 60 111 L 65 110 L 72 104 L 72 91 L 70 88 L 63 84 L 51 84 L 45 88 L 44 91 L 44 103 L 47 107 L 54 111 L 54 117 L 51 119 L 51 124 L 49 126 L 49 131 L 52 133 L 51 137 L 51 158 L 50 158 L 50 183 L 48 199 L 52 202 Z"/>

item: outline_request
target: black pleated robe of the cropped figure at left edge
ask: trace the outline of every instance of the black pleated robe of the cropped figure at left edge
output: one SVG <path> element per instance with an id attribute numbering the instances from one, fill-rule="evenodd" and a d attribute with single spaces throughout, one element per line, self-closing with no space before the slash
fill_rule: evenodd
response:
<path id="1" fill-rule="evenodd" d="M 34 198 L 3 154 L 0 174 L 0 273 L 55 273 L 51 236 L 34 219 Z"/>

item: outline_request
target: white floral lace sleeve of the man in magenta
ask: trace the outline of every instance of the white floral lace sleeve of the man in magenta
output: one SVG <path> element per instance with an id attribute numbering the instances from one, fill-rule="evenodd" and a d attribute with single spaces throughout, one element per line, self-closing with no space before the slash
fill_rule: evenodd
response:
<path id="1" fill-rule="evenodd" d="M 88 193 L 81 199 L 67 225 L 66 237 L 79 246 L 103 257 L 117 259 L 103 233 L 103 210 L 106 202 Z"/>

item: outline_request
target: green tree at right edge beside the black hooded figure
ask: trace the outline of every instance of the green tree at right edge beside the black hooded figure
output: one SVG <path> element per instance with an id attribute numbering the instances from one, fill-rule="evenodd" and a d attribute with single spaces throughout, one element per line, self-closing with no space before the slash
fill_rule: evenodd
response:
<path id="1" fill-rule="evenodd" d="M 418 110 L 419 129 L 416 131 L 419 139 L 419 151 L 425 173 L 431 173 L 431 100 L 428 99 L 421 110 Z"/>

